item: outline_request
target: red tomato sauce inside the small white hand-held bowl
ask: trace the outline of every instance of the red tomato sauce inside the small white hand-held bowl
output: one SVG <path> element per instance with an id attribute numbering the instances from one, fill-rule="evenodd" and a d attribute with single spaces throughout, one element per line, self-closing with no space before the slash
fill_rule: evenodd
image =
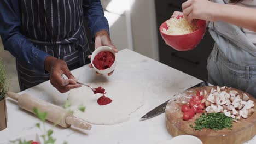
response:
<path id="1" fill-rule="evenodd" d="M 94 57 L 92 63 L 99 70 L 110 68 L 115 62 L 115 56 L 112 52 L 102 51 Z"/>

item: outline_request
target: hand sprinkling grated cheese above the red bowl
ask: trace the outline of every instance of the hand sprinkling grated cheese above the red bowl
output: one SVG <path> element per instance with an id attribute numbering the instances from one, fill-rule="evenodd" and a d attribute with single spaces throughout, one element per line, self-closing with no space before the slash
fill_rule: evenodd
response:
<path id="1" fill-rule="evenodd" d="M 182 4 L 183 15 L 190 23 L 193 19 L 214 21 L 218 4 L 208 0 L 188 0 Z"/>

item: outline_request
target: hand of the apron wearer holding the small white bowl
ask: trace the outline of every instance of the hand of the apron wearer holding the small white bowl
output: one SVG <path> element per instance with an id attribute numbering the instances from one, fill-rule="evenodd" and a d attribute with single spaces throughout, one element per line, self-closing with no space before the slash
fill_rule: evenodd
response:
<path id="1" fill-rule="evenodd" d="M 108 32 L 106 30 L 99 31 L 95 34 L 95 49 L 97 49 L 100 46 L 109 46 L 113 49 L 114 52 L 118 52 L 118 49 L 112 44 Z M 91 58 L 91 55 L 88 56 L 88 58 Z M 89 66 L 92 68 L 92 65 L 89 64 Z M 114 71 L 108 74 L 108 76 L 112 75 Z M 97 73 L 97 75 L 100 75 Z"/>

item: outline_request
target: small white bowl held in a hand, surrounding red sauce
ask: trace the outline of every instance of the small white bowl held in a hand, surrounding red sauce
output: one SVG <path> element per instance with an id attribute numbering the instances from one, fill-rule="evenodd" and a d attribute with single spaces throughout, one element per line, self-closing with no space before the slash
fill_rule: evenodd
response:
<path id="1" fill-rule="evenodd" d="M 104 69 L 104 70 L 99 70 L 97 69 L 95 66 L 94 66 L 94 63 L 92 63 L 94 61 L 94 57 L 96 55 L 98 55 L 98 53 L 102 52 L 102 51 L 109 51 L 111 53 L 114 54 L 115 56 L 115 52 L 112 50 L 111 47 L 108 47 L 108 46 L 101 46 L 101 47 L 98 47 L 96 50 L 94 50 L 94 52 L 92 52 L 91 54 L 91 65 L 92 67 L 94 67 L 94 69 L 100 73 L 100 74 L 108 74 L 108 73 L 111 73 L 114 69 L 115 69 L 115 65 L 117 64 L 117 57 L 115 57 L 115 61 L 114 63 L 112 64 L 112 66 L 110 68 L 107 68 L 107 69 Z"/>

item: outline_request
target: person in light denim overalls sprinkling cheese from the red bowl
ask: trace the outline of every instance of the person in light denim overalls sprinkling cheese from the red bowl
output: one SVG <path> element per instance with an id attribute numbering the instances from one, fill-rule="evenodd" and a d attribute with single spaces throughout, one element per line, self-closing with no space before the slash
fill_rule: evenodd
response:
<path id="1" fill-rule="evenodd" d="M 241 89 L 256 98 L 255 8 L 255 0 L 188 0 L 182 4 L 183 15 L 189 22 L 209 21 L 215 41 L 208 58 L 209 82 Z M 173 16 L 180 14 L 175 11 Z"/>

